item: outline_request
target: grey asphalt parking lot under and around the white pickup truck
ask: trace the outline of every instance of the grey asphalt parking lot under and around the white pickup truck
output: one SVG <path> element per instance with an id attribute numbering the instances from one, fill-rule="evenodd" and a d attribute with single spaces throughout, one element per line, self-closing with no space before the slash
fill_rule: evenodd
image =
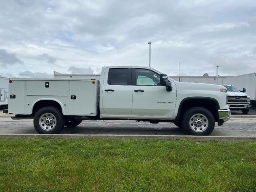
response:
<path id="1" fill-rule="evenodd" d="M 37 134 L 33 120 L 12 120 L 0 117 L 0 134 Z M 173 123 L 136 122 L 124 120 L 83 121 L 74 128 L 65 127 L 60 134 L 138 134 L 186 135 Z M 256 136 L 256 118 L 231 118 L 223 126 L 216 124 L 211 136 Z"/>

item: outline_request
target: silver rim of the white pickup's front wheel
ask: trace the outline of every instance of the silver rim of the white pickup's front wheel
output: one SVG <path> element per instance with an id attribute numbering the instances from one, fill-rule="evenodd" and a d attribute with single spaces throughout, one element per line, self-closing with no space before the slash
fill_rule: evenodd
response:
<path id="1" fill-rule="evenodd" d="M 191 116 L 189 125 L 193 131 L 203 132 L 208 128 L 209 120 L 205 115 L 197 113 Z"/>

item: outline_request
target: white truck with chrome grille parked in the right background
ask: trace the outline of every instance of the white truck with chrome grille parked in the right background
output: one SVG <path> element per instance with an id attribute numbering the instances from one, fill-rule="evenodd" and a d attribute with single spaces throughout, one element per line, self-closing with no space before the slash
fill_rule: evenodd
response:
<path id="1" fill-rule="evenodd" d="M 247 114 L 251 107 L 250 96 L 245 92 L 246 89 L 238 90 L 233 85 L 223 85 L 227 89 L 228 101 L 227 104 L 230 110 L 242 110 L 243 114 Z"/>

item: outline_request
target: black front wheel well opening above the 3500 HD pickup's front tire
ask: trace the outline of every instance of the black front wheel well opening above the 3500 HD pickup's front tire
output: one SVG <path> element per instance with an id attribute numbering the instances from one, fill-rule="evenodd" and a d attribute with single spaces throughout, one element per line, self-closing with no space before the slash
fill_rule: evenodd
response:
<path id="1" fill-rule="evenodd" d="M 191 98 L 183 100 L 180 104 L 178 115 L 176 116 L 176 122 L 179 122 L 182 118 L 182 114 L 184 114 L 186 110 L 192 107 L 203 107 L 208 109 L 214 116 L 214 120 L 218 122 L 218 109 L 220 108 L 219 104 L 216 100 L 209 98 Z"/>

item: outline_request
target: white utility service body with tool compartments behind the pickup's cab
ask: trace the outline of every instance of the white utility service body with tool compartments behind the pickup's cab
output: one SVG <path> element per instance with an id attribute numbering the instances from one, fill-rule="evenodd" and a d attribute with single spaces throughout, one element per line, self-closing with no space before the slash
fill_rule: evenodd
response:
<path id="1" fill-rule="evenodd" d="M 98 80 L 12 79 L 9 87 L 8 111 L 16 115 L 32 114 L 35 104 L 46 105 L 43 100 L 58 102 L 67 116 L 96 116 L 98 112 Z"/>

